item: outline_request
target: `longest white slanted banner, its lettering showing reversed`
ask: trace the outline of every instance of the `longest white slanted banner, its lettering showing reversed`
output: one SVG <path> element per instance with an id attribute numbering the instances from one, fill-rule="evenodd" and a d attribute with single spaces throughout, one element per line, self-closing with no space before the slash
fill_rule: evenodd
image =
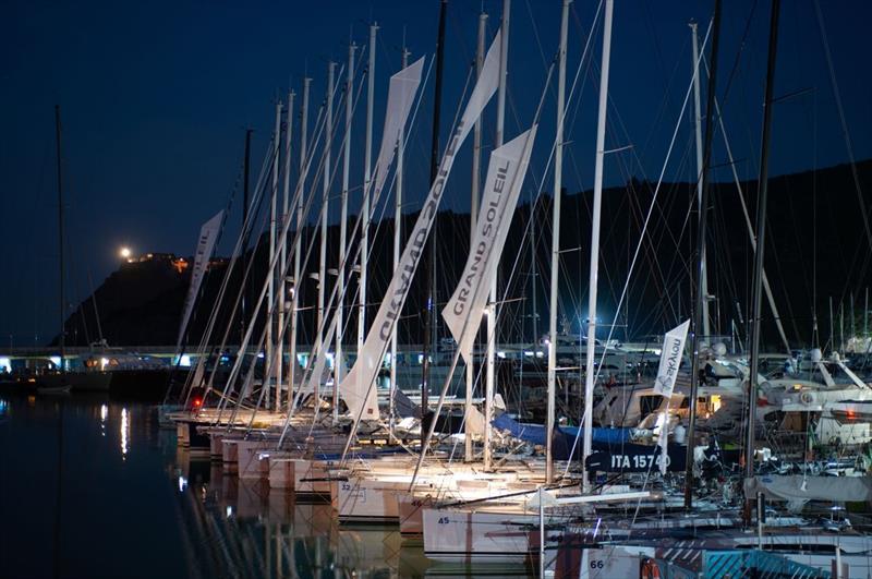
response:
<path id="1" fill-rule="evenodd" d="M 393 272 L 393 278 L 390 280 L 385 299 L 382 301 L 370 333 L 366 335 L 363 349 L 358 352 L 358 360 L 339 384 L 339 393 L 355 421 L 359 418 L 364 420 L 378 418 L 378 400 L 375 388 L 371 388 L 371 386 L 375 382 L 379 367 L 382 367 L 382 361 L 387 351 L 393 325 L 400 317 L 400 312 L 405 304 L 405 298 L 409 295 L 412 277 L 414 277 L 417 269 L 424 243 L 427 241 L 427 236 L 429 236 L 429 230 L 436 219 L 445 183 L 448 181 L 457 153 L 472 130 L 472 125 L 481 117 L 484 107 L 497 91 L 497 85 L 499 84 L 500 45 L 500 33 L 497 33 L 494 43 L 487 50 L 482 73 L 475 83 L 475 88 L 472 91 L 469 102 L 467 102 L 463 116 L 458 122 L 455 134 L 451 135 L 451 140 L 448 142 L 448 147 L 446 147 L 443 160 L 439 164 L 436 180 L 431 186 L 427 198 L 424 200 L 421 214 L 417 216 L 409 242 L 402 252 L 397 270 Z"/>

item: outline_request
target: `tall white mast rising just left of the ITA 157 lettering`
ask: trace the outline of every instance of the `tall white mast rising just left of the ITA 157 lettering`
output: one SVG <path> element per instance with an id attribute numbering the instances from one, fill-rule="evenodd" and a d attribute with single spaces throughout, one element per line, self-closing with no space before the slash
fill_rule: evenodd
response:
<path id="1" fill-rule="evenodd" d="M 596 281 L 600 274 L 600 217 L 603 205 L 603 158 L 606 144 L 606 109 L 608 106 L 608 67 L 611 56 L 611 12 L 614 0 L 606 0 L 606 15 L 603 22 L 603 65 L 600 81 L 600 113 L 596 121 L 596 162 L 593 183 L 593 216 L 591 224 L 591 270 L 588 288 L 588 346 L 584 364 L 584 458 L 591 455 L 593 446 L 593 383 L 596 371 L 594 354 L 596 350 Z M 583 486 L 590 492 L 588 469 L 583 471 Z"/>

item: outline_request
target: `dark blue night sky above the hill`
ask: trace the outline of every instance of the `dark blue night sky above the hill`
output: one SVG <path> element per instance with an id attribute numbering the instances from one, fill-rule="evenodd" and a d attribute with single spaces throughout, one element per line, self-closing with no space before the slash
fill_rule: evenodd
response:
<path id="1" fill-rule="evenodd" d="M 501 4 L 484 2 L 491 14 L 488 39 L 499 25 Z M 560 4 L 559 0 L 512 4 L 507 137 L 533 120 L 547 62 L 557 49 Z M 712 3 L 617 0 L 615 4 L 608 142 L 609 148 L 630 144 L 633 148 L 620 159 L 609 158 L 607 184 L 630 176 L 656 180 L 690 82 L 687 23 L 697 19 L 704 34 Z M 868 62 L 872 8 L 860 1 L 821 4 L 853 155 L 864 159 L 872 156 Z M 444 135 L 473 59 L 480 8 L 479 1 L 449 4 Z M 240 172 L 244 128 L 255 129 L 253 165 L 258 167 L 271 132 L 276 96 L 284 98 L 289 86 L 299 93 L 306 71 L 313 77 L 310 125 L 314 124 L 328 60 L 344 64 L 349 35 L 365 44 L 371 20 L 380 25 L 377 149 L 387 80 L 399 69 L 403 37 L 413 58 L 429 59 L 438 9 L 437 0 L 2 2 L 0 340 L 44 343 L 57 328 L 56 104 L 63 116 L 70 301 L 77 303 L 90 292 L 89 276 L 97 286 L 117 267 L 122 244 L 137 252 L 191 254 L 199 225 L 225 206 Z M 570 82 L 595 11 L 593 1 L 572 4 Z M 742 159 L 742 178 L 754 178 L 758 171 L 768 15 L 765 0 L 725 2 L 718 97 L 735 156 Z M 583 68 L 570 104 L 571 145 L 564 176 L 569 191 L 588 189 L 593 179 L 600 34 L 592 47 L 592 65 Z M 783 3 L 775 93 L 806 88 L 813 91 L 775 110 L 772 174 L 848 160 L 814 3 L 796 0 Z M 407 195 L 419 203 L 428 173 L 432 77 L 426 91 L 407 152 Z M 545 173 L 555 94 L 556 74 L 531 165 L 533 179 L 528 179 L 531 190 Z M 486 117 L 488 143 L 494 109 L 492 105 Z M 679 131 L 679 157 L 692 138 L 689 118 L 685 114 Z M 299 129 L 294 131 L 296 140 Z M 363 181 L 363 134 L 362 99 L 352 137 L 352 186 Z M 469 148 L 468 144 L 455 167 L 443 208 L 469 206 Z M 334 150 L 336 159 L 338 141 Z M 716 146 L 714 162 L 724 160 L 723 147 Z M 677 157 L 666 177 L 694 179 L 692 166 L 679 164 Z M 726 169 L 715 174 L 719 180 L 728 177 Z M 549 190 L 550 171 L 543 186 Z M 846 193 L 844 203 L 853 207 L 856 194 Z M 410 201 L 408 210 L 417 208 L 415 201 Z M 221 253 L 230 251 L 235 229 L 229 233 Z"/>

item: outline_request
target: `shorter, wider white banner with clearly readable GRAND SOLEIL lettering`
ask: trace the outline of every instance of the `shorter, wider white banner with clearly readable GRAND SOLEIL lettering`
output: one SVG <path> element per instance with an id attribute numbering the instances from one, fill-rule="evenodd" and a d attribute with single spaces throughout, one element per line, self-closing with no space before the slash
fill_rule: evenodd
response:
<path id="1" fill-rule="evenodd" d="M 470 255 L 455 293 L 443 310 L 460 352 L 472 363 L 472 346 L 487 305 L 491 279 L 509 234 L 511 216 L 521 195 L 530 153 L 536 138 L 536 125 L 491 153 L 484 196 Z"/>

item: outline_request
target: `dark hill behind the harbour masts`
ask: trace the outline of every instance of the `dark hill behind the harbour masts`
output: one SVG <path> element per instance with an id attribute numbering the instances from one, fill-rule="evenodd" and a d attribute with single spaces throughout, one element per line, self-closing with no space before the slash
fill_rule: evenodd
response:
<path id="1" fill-rule="evenodd" d="M 858 171 L 863 190 L 872 191 L 872 160 L 859 164 Z M 604 192 L 601 323 L 610 322 L 614 315 L 654 186 L 655 183 L 631 179 L 623 186 Z M 741 186 L 753 221 L 756 183 L 743 182 Z M 560 243 L 564 272 L 559 312 L 561 317 L 566 316 L 573 331 L 579 330 L 580 321 L 586 316 L 591 196 L 589 191 L 567 195 L 562 205 Z M 524 197 L 529 198 L 529 195 Z M 628 287 L 628 298 L 618 316 L 618 338 L 643 339 L 646 335 L 662 333 L 689 315 L 692 287 L 689 264 L 693 261 L 697 219 L 694 200 L 695 189 L 689 183 L 662 184 L 645 243 Z M 715 297 L 711 302 L 713 326 L 726 335 L 734 327 L 739 339 L 743 339 L 752 263 L 744 217 L 734 183 L 715 184 L 712 200 L 712 233 L 707 251 L 710 293 Z M 867 209 L 872 205 L 869 194 L 865 205 Z M 543 196 L 536 204 L 534 236 L 525 238 L 523 234 L 530 226 L 529 204 L 519 207 L 512 220 L 500 267 L 501 293 L 506 291 L 505 281 L 509 279 L 513 267 L 516 275 L 512 287 L 506 293 L 509 301 L 504 307 L 501 339 L 519 341 L 523 336 L 524 340 L 532 340 L 534 330 L 538 334 L 547 330 L 550 207 L 550 196 Z M 851 292 L 856 298 L 856 316 L 862 316 L 862 298 L 864 288 L 870 285 L 869 260 L 872 255 L 872 243 L 864 232 L 850 168 L 841 165 L 773 178 L 768 216 L 766 269 L 788 337 L 797 346 L 811 342 L 815 297 L 821 341 L 825 341 L 829 334 L 829 297 L 833 297 L 836 312 L 841 304 L 845 306 L 847 333 L 850 329 L 848 314 Z M 416 215 L 404 216 L 404 230 L 408 231 L 415 218 Z M 338 226 L 331 227 L 328 234 L 328 267 L 337 265 L 338 229 Z M 383 219 L 380 225 L 373 225 L 371 304 L 377 305 L 380 301 L 391 275 L 392 232 L 392 219 Z M 304 243 L 311 240 L 312 233 L 312 230 L 305 231 Z M 438 301 L 441 302 L 453 290 L 465 261 L 469 215 L 440 213 L 436 236 L 439 253 L 436 281 Z M 312 252 L 307 267 L 310 273 L 317 269 L 316 255 L 317 250 Z M 252 288 L 259 290 L 265 269 L 266 250 L 262 241 L 255 252 Z M 226 272 L 226 264 L 216 264 L 209 269 L 199 306 L 192 319 L 189 341 L 199 340 Z M 419 270 L 404 312 L 407 317 L 400 325 L 401 341 L 407 343 L 422 340 L 425 277 L 424 272 Z M 106 339 L 111 345 L 123 346 L 174 343 L 189 281 L 190 270 L 179 273 L 169 258 L 124 264 L 96 291 Z M 329 282 L 334 281 L 335 277 L 330 277 Z M 234 273 L 230 281 L 231 297 L 238 294 L 239 286 L 239 275 Z M 354 289 L 352 281 L 352 291 Z M 306 277 L 302 291 L 303 306 L 313 304 L 315 282 Z M 252 295 L 256 295 L 255 290 L 249 297 L 250 306 Z M 538 318 L 534 318 L 534 310 Z M 764 306 L 763 312 L 764 341 L 777 347 L 771 311 Z M 219 327 L 226 327 L 229 306 L 221 312 Z M 375 305 L 368 315 L 372 317 L 374 314 Z M 96 339 L 94 322 L 94 307 L 88 299 L 68 319 L 68 341 L 84 345 L 86 335 L 92 340 Z M 311 342 L 313 326 L 314 312 L 308 310 L 303 314 L 301 342 Z M 231 342 L 239 339 L 238 327 L 238 323 L 234 323 Z M 347 327 L 351 329 L 346 341 L 353 343 L 353 328 L 356 328 L 353 316 Z M 835 334 L 838 339 L 838 325 Z"/>

